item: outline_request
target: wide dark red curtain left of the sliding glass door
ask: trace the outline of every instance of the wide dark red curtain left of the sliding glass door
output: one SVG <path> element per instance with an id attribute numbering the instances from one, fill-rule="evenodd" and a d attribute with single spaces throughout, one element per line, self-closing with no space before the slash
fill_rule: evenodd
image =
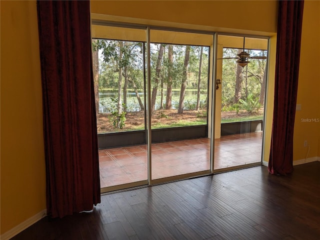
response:
<path id="1" fill-rule="evenodd" d="M 37 1 L 47 214 L 100 202 L 89 1 Z"/>

